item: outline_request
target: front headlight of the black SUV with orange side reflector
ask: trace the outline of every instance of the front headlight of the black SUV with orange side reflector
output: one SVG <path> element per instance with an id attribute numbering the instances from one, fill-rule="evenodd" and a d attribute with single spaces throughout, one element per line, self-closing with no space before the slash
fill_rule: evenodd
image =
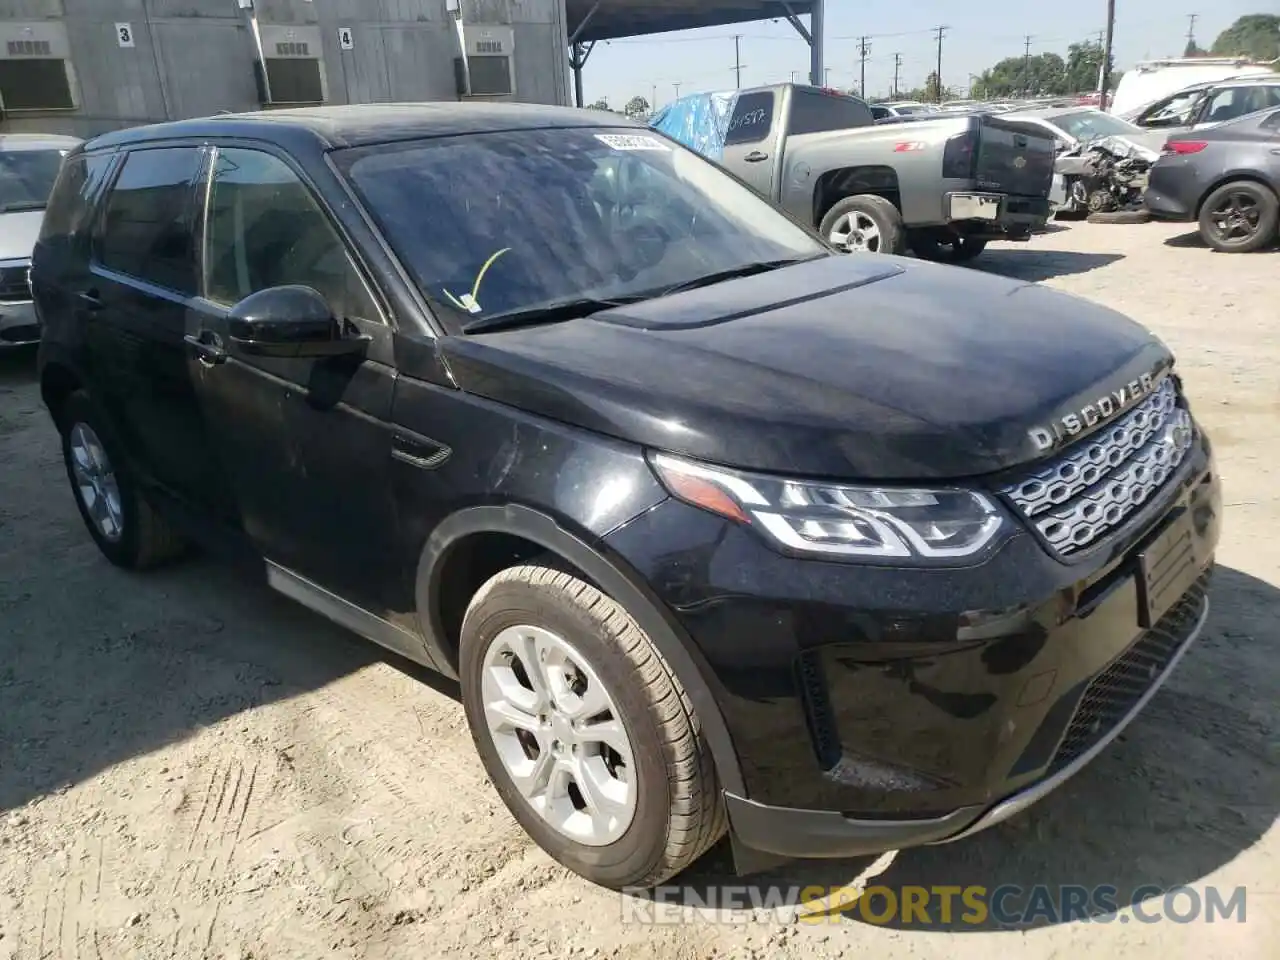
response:
<path id="1" fill-rule="evenodd" d="M 1000 508 L 974 490 L 792 480 L 667 453 L 650 461 L 672 497 L 748 524 L 796 553 L 955 559 L 980 553 L 1005 524 Z"/>

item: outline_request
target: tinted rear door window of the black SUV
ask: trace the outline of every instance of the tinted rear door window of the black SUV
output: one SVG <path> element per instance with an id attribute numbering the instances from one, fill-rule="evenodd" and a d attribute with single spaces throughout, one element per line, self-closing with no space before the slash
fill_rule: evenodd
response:
<path id="1" fill-rule="evenodd" d="M 195 147 L 129 154 L 106 200 L 96 244 L 99 262 L 159 287 L 195 293 L 191 183 L 198 166 Z"/>

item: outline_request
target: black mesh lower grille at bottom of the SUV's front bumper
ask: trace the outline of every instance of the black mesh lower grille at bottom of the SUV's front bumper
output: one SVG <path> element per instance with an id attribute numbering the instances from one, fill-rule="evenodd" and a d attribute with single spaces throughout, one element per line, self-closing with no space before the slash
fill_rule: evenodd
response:
<path id="1" fill-rule="evenodd" d="M 1208 582 L 1210 573 L 1202 573 L 1156 626 L 1089 681 L 1053 754 L 1050 774 L 1069 767 L 1107 736 L 1169 669 L 1204 609 Z"/>

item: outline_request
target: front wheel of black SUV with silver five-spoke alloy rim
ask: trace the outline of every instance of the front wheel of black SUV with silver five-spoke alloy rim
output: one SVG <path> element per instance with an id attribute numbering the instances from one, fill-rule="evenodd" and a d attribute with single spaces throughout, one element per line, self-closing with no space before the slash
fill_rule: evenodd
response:
<path id="1" fill-rule="evenodd" d="M 689 696 L 595 586 L 552 566 L 502 571 L 471 599 L 458 659 L 489 778 L 564 867 L 604 887 L 648 888 L 723 836 L 724 805 Z M 539 698 L 539 686 L 554 692 Z M 605 735 L 608 748 L 593 740 Z"/>

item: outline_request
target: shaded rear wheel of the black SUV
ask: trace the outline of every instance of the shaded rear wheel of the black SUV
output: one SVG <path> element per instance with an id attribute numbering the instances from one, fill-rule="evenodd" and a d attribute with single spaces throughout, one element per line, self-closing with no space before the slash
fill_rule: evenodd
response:
<path id="1" fill-rule="evenodd" d="M 186 543 L 142 495 L 115 434 L 87 393 L 67 398 L 59 425 L 72 495 L 102 556 L 125 570 L 182 556 Z"/>

